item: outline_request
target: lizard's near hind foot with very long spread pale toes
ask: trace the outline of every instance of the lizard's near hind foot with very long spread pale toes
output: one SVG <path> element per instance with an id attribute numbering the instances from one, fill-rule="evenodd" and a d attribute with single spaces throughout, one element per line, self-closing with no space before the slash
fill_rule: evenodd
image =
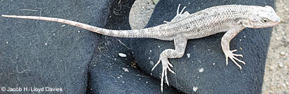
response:
<path id="1" fill-rule="evenodd" d="M 161 62 L 161 65 L 163 67 L 162 72 L 161 72 L 161 93 L 162 93 L 163 92 L 163 85 L 164 85 L 164 76 L 166 77 L 166 83 L 168 84 L 167 70 L 172 72 L 173 74 L 176 74 L 176 73 L 173 72 L 173 70 L 171 70 L 170 67 L 173 67 L 173 65 L 171 65 L 171 63 L 168 61 L 168 58 L 164 57 L 164 55 L 161 55 L 159 57 L 159 61 L 156 62 L 156 65 L 154 65 L 154 67 L 152 68 L 152 71 L 154 70 L 154 68 L 157 65 L 159 65 L 159 62 Z"/>

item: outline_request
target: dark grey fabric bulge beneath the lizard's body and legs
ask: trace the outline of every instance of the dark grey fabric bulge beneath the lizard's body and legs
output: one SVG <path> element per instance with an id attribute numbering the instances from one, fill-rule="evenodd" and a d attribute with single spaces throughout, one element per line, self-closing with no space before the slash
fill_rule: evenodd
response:
<path id="1" fill-rule="evenodd" d="M 226 1 L 226 0 L 162 0 L 156 5 L 147 27 L 161 25 L 164 20 L 170 21 L 176 15 L 178 4 L 187 6 L 185 11 L 195 13 L 211 6 L 226 4 L 243 4 L 257 6 L 274 6 L 273 0 Z M 246 62 L 239 69 L 232 61 L 226 66 L 226 58 L 221 50 L 221 37 L 224 33 L 214 34 L 187 42 L 185 55 L 180 59 L 170 59 L 176 74 L 168 74 L 171 86 L 185 92 L 195 93 L 261 93 L 264 76 L 266 53 L 269 46 L 272 28 L 244 29 L 230 41 L 230 49 L 238 49 L 236 53 L 244 55 L 240 58 Z M 161 64 L 151 72 L 159 60 L 159 54 L 167 48 L 174 48 L 173 41 L 157 39 L 133 39 L 131 43 L 136 61 L 144 72 L 152 73 L 159 78 Z M 190 53 L 190 58 L 187 58 Z M 149 59 L 150 58 L 150 59 Z M 199 72 L 203 68 L 204 72 Z M 166 86 L 166 85 L 165 85 Z"/>

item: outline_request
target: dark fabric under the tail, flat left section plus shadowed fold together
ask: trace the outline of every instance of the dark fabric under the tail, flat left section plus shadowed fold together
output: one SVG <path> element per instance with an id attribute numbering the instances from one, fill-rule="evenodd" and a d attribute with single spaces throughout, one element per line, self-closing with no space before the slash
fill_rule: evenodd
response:
<path id="1" fill-rule="evenodd" d="M 133 2 L 1 1 L 0 15 L 39 15 L 130 29 L 128 14 Z M 118 38 L 57 22 L 2 17 L 0 22 L 1 88 L 63 90 L 44 93 L 160 93 L 159 79 L 131 67 L 133 55 Z M 119 40 L 129 45 L 130 39 Z M 128 57 L 120 58 L 118 53 Z M 164 93 L 177 92 L 168 87 Z"/>

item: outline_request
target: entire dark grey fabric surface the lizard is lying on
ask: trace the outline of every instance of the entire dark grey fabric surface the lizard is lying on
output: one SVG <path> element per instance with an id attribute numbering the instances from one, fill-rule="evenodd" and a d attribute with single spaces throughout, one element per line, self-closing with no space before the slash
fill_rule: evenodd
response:
<path id="1" fill-rule="evenodd" d="M 106 29 L 130 29 L 128 14 L 134 1 L 0 2 L 0 15 L 46 16 Z M 147 27 L 171 20 L 178 4 L 195 13 L 223 4 L 273 6 L 274 1 L 161 0 Z M 174 48 L 173 41 L 114 38 L 57 22 L 0 17 L 0 23 L 1 90 L 49 87 L 63 91 L 40 93 L 161 93 L 161 67 L 151 72 L 151 62 L 156 63 L 166 48 Z M 168 74 L 171 86 L 164 85 L 164 93 L 195 93 L 193 86 L 198 87 L 197 93 L 261 93 L 271 28 L 245 29 L 230 42 L 231 50 L 244 55 L 241 60 L 247 63 L 241 64 L 242 70 L 231 61 L 226 67 L 221 36 L 188 41 L 184 57 L 170 60 L 176 75 Z M 204 72 L 199 73 L 200 68 Z"/>

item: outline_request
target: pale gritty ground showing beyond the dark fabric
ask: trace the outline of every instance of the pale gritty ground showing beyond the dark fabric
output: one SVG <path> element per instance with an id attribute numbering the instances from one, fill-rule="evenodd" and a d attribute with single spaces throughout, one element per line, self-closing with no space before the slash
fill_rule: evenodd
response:
<path id="1" fill-rule="evenodd" d="M 281 25 L 273 28 L 266 58 L 262 93 L 289 93 L 289 0 L 276 1 L 276 13 L 282 18 Z M 136 0 L 130 12 L 130 25 L 140 29 L 154 10 L 152 0 Z"/>

